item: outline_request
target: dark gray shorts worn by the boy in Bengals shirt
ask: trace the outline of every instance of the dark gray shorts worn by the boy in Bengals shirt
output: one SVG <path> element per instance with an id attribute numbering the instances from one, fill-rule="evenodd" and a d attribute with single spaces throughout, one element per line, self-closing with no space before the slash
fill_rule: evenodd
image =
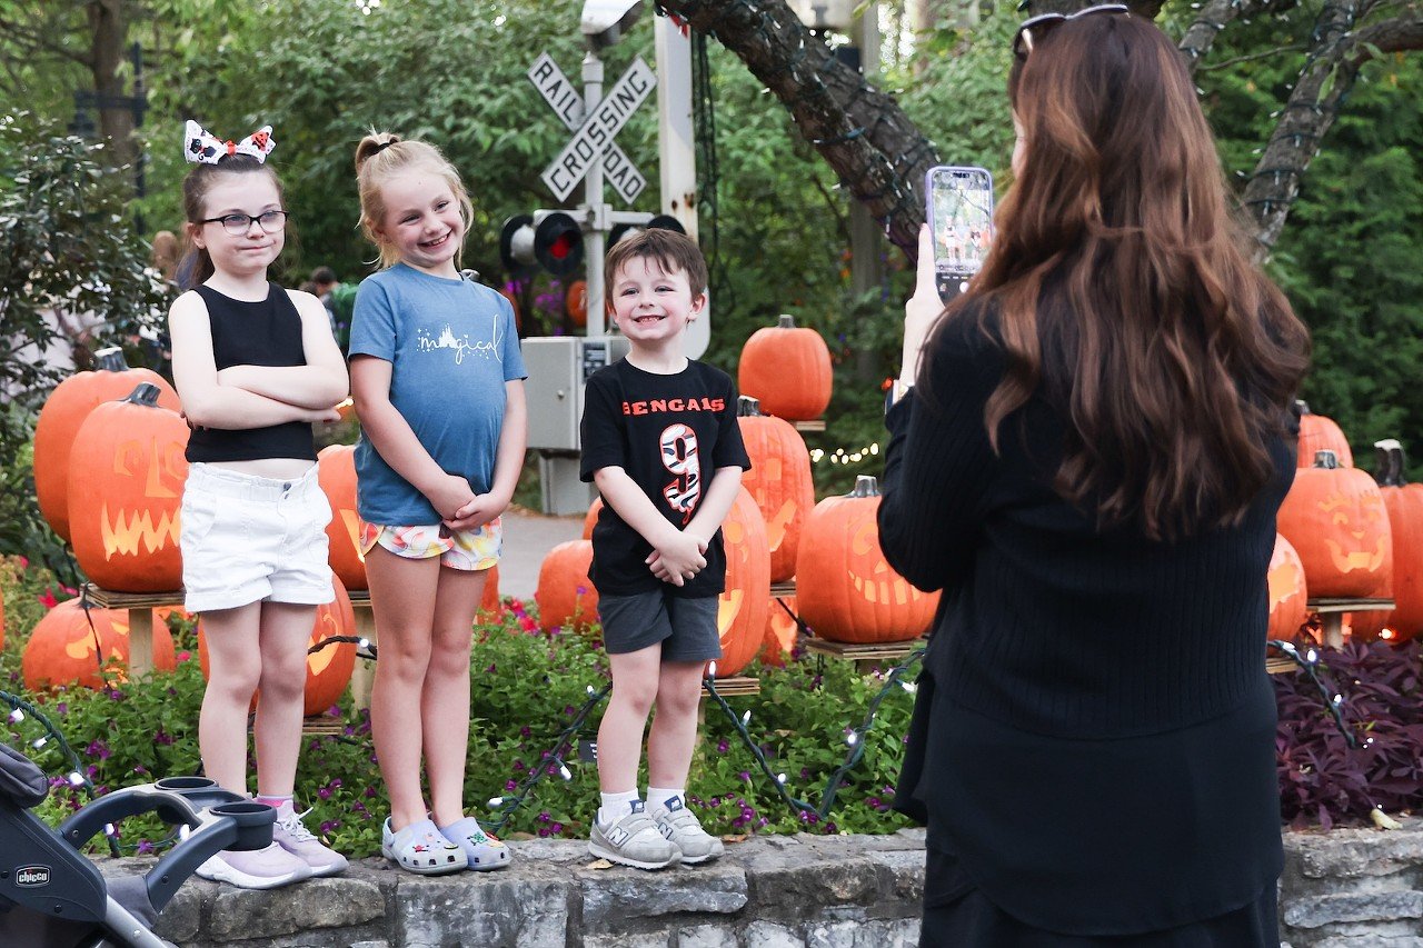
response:
<path id="1" fill-rule="evenodd" d="M 683 599 L 660 589 L 598 598 L 598 621 L 609 655 L 639 652 L 660 642 L 663 662 L 721 658 L 716 612 L 717 596 Z"/>

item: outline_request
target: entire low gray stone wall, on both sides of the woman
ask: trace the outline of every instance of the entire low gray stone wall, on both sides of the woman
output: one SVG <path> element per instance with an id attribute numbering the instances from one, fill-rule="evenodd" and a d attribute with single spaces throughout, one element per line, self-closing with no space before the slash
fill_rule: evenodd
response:
<path id="1" fill-rule="evenodd" d="M 924 833 L 756 837 L 723 860 L 593 868 L 585 843 L 511 844 L 490 874 L 420 878 L 361 860 L 339 878 L 253 892 L 198 878 L 164 912 L 184 948 L 896 948 L 918 941 Z M 152 860 L 102 864 L 105 873 Z M 1423 820 L 1286 833 L 1289 948 L 1423 948 Z"/>

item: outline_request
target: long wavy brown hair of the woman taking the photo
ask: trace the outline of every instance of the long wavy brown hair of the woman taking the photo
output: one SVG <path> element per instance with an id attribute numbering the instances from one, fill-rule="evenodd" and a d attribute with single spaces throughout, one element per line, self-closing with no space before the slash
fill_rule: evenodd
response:
<path id="1" fill-rule="evenodd" d="M 1026 161 L 946 316 L 998 310 L 989 438 L 998 450 L 1005 418 L 1042 389 L 1067 420 L 1054 488 L 1101 528 L 1174 539 L 1238 522 L 1274 477 L 1268 440 L 1308 332 L 1249 260 L 1165 36 L 1093 14 L 1033 38 L 1009 78 Z"/>

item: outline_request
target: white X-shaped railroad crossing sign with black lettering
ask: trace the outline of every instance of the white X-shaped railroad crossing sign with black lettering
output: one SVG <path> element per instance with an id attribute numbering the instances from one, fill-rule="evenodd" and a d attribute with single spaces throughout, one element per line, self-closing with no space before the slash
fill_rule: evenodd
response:
<path id="1" fill-rule="evenodd" d="M 623 201 L 630 204 L 642 194 L 647 179 L 613 142 L 613 137 L 657 87 L 657 75 L 652 67 L 640 56 L 633 60 L 591 115 L 583 115 L 582 97 L 548 53 L 539 54 L 529 67 L 528 77 L 544 101 L 558 112 L 569 130 L 573 130 L 573 137 L 564 145 L 564 151 L 541 175 L 554 196 L 559 201 L 568 198 L 595 161 L 602 162 L 608 184 L 622 195 Z"/>

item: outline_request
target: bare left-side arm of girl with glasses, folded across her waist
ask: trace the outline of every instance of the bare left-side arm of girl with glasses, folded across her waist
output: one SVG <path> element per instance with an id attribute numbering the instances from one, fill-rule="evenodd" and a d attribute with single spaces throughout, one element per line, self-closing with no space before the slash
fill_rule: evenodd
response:
<path id="1" fill-rule="evenodd" d="M 174 384 L 189 424 L 240 430 L 286 421 L 334 421 L 340 417 L 332 407 L 334 401 L 307 407 L 222 384 L 212 356 L 208 307 L 196 293 L 184 293 L 174 302 L 168 312 L 168 330 L 172 336 Z"/>

